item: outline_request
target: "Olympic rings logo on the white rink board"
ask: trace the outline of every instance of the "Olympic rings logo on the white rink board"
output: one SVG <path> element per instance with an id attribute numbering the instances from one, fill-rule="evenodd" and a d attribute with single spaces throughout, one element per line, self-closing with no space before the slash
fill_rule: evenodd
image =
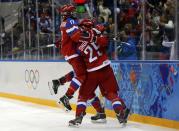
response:
<path id="1" fill-rule="evenodd" d="M 37 89 L 40 80 L 38 70 L 25 70 L 25 82 L 28 88 Z"/>

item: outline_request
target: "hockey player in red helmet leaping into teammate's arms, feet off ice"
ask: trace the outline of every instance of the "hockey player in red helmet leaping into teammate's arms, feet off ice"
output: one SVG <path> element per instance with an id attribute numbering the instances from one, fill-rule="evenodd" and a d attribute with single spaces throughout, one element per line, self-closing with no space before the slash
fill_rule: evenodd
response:
<path id="1" fill-rule="evenodd" d="M 81 37 L 81 30 L 78 27 L 78 20 L 74 16 L 76 8 L 73 5 L 64 5 L 59 9 L 62 16 L 62 23 L 60 25 L 61 31 L 61 53 L 65 60 L 72 66 L 75 76 L 73 77 L 70 87 L 66 94 L 60 98 L 61 103 L 71 110 L 69 99 L 74 92 L 83 84 L 86 79 L 86 67 L 83 59 L 76 52 L 76 44 L 79 43 Z M 53 81 L 54 84 L 59 84 L 58 81 Z M 57 88 L 54 88 L 54 93 L 57 93 Z"/>

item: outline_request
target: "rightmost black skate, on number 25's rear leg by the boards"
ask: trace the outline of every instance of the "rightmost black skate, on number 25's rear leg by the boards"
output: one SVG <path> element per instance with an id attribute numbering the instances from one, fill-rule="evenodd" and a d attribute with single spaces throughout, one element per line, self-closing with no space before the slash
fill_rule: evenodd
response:
<path id="1" fill-rule="evenodd" d="M 128 108 L 126 108 L 123 111 L 121 111 L 121 113 L 116 114 L 117 119 L 118 119 L 120 124 L 126 124 L 127 123 L 129 113 L 130 113 L 130 110 Z"/>

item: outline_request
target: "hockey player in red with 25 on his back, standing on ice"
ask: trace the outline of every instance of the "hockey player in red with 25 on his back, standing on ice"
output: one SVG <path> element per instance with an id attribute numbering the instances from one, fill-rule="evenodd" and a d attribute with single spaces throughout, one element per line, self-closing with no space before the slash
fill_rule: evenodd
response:
<path id="1" fill-rule="evenodd" d="M 84 25 L 89 23 L 89 20 L 83 21 Z M 69 125 L 78 126 L 81 124 L 86 114 L 86 102 L 94 97 L 94 92 L 98 85 L 103 89 L 103 95 L 112 102 L 119 123 L 126 123 L 129 109 L 118 96 L 119 87 L 104 49 L 108 41 L 105 39 L 105 36 L 95 34 L 93 29 L 88 32 L 88 36 L 80 39 L 77 45 L 77 51 L 83 57 L 86 64 L 87 79 L 80 87 L 76 118 L 69 121 Z"/>

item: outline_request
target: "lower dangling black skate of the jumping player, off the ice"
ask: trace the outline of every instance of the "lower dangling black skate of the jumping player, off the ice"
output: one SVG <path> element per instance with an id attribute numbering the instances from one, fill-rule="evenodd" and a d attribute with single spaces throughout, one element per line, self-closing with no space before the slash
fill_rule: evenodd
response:
<path id="1" fill-rule="evenodd" d="M 60 101 L 58 102 L 58 104 L 62 104 L 63 105 L 63 107 L 65 108 L 66 112 L 69 112 L 69 111 L 72 110 L 70 102 L 69 102 L 69 100 L 71 98 L 72 97 L 69 98 L 68 96 L 64 95 L 63 97 L 60 98 Z"/>

